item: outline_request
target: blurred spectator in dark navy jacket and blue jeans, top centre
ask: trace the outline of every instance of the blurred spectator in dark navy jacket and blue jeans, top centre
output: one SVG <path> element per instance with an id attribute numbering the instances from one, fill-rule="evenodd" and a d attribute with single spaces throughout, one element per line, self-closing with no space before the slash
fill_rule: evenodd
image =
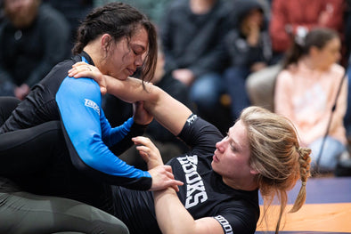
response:
<path id="1" fill-rule="evenodd" d="M 233 23 L 232 8 L 224 0 L 174 1 L 160 24 L 166 70 L 189 86 L 200 116 L 221 130 L 228 126 L 221 126 L 224 114 L 219 98 L 225 88 L 220 47 Z"/>

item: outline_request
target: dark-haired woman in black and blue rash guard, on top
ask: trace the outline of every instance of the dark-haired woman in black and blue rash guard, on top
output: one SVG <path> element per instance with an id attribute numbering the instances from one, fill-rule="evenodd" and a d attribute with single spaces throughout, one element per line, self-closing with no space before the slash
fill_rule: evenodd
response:
<path id="1" fill-rule="evenodd" d="M 73 52 L 75 56 L 56 65 L 1 125 L 0 176 L 15 182 L 19 189 L 2 182 L 0 192 L 24 190 L 70 198 L 113 213 L 110 184 L 133 190 L 159 190 L 181 184 L 174 180 L 170 166 L 162 165 L 145 172 L 116 156 L 133 144 L 128 141 L 131 136 L 142 134 L 145 125 L 151 122 L 152 117 L 143 105 L 136 105 L 134 117 L 112 128 L 101 108 L 99 85 L 92 79 L 67 75 L 74 63 L 85 61 L 94 64 L 103 74 L 121 80 L 132 76 L 136 69 L 140 70 L 142 79 L 149 79 L 157 59 L 156 30 L 150 20 L 128 4 L 111 3 L 96 8 L 78 28 L 78 42 Z M 54 135 L 46 135 L 49 133 Z M 45 141 L 38 148 L 34 147 L 37 137 L 56 141 Z M 8 199 L 8 194 L 4 196 Z M 27 198 L 27 194 L 24 197 Z M 31 212 L 40 209 L 40 206 L 30 206 L 36 199 L 30 203 L 31 199 L 24 197 L 16 199 L 18 202 L 11 206 L 25 207 Z M 11 208 L 7 206 L 9 203 L 0 204 L 2 211 Z M 53 203 L 49 208 L 61 207 L 56 205 Z M 42 210 L 50 214 L 47 209 Z M 53 214 L 49 215 L 53 223 L 58 222 L 61 213 Z M 16 215 L 22 223 L 30 223 L 34 221 L 27 218 L 45 216 L 45 212 L 38 216 Z M 44 220 L 36 219 L 40 221 Z M 5 229 L 2 222 L 0 227 Z M 7 233 L 21 231 L 15 230 L 16 225 L 12 228 Z"/>

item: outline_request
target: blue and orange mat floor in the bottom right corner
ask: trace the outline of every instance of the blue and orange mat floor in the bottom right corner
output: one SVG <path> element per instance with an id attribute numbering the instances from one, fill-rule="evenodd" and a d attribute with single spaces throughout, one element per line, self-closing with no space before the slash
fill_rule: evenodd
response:
<path id="1" fill-rule="evenodd" d="M 290 191 L 288 209 L 299 188 L 300 183 Z M 351 233 L 351 177 L 310 178 L 306 193 L 306 204 L 297 213 L 284 215 L 280 233 Z M 257 226 L 257 234 L 265 233 L 267 227 L 267 233 L 273 233 L 273 222 L 268 220 L 267 223 L 261 222 Z"/>

